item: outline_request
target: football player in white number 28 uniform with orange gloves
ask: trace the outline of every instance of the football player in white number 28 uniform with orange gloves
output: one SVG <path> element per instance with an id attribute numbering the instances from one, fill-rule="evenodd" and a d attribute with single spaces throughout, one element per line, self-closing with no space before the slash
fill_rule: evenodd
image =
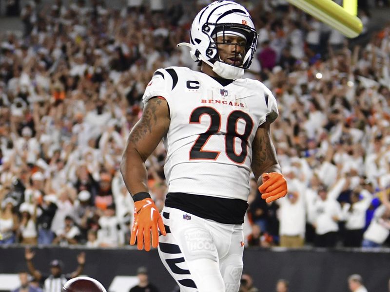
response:
<path id="1" fill-rule="evenodd" d="M 170 67 L 154 73 L 123 154 L 121 172 L 135 201 L 130 243 L 137 240 L 146 251 L 151 240 L 158 245 L 182 292 L 237 292 L 251 171 L 267 202 L 287 193 L 270 134 L 278 110 L 268 88 L 241 78 L 258 36 L 243 6 L 211 3 L 190 34 L 191 43 L 178 45 L 190 47 L 200 72 Z M 162 217 L 144 164 L 161 139 L 168 183 Z"/>

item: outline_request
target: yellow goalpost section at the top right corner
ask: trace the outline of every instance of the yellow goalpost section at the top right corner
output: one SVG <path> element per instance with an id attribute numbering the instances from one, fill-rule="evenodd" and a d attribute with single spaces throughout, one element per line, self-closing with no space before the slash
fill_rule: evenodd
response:
<path id="1" fill-rule="evenodd" d="M 287 0 L 312 17 L 328 24 L 346 37 L 357 37 L 363 30 L 362 21 L 332 0 Z M 353 4 L 353 1 L 349 5 Z M 348 6 L 350 7 L 350 6 Z"/>

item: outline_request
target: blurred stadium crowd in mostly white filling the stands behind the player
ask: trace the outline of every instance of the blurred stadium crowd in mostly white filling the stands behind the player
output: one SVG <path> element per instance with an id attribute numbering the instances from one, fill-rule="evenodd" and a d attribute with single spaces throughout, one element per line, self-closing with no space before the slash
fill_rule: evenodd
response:
<path id="1" fill-rule="evenodd" d="M 0 244 L 128 244 L 133 201 L 119 163 L 143 91 L 157 68 L 197 68 L 176 48 L 193 12 L 128 3 L 30 1 L 23 36 L 2 39 Z M 245 77 L 277 99 L 272 134 L 289 185 L 267 204 L 251 182 L 247 246 L 389 246 L 390 24 L 350 46 L 284 1 L 244 5 L 259 33 Z M 369 13 L 359 17 L 367 28 Z M 161 209 L 164 159 L 161 144 L 147 160 Z"/>

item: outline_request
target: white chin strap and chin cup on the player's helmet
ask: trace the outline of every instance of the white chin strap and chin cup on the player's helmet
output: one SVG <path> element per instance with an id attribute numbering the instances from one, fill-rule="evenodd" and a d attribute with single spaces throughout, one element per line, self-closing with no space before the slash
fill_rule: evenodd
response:
<path id="1" fill-rule="evenodd" d="M 213 71 L 217 73 L 219 76 L 225 79 L 238 79 L 241 78 L 242 75 L 244 75 L 244 69 L 235 67 L 233 65 L 226 64 L 221 61 L 215 61 L 214 64 L 210 62 L 209 60 L 206 60 L 198 50 L 196 50 L 196 47 L 193 44 L 189 43 L 179 43 L 177 44 L 178 47 L 180 46 L 186 46 L 190 48 L 190 55 L 191 58 L 194 61 L 201 60 L 202 62 L 205 62 L 207 65 L 209 65 L 211 68 L 213 68 Z"/>

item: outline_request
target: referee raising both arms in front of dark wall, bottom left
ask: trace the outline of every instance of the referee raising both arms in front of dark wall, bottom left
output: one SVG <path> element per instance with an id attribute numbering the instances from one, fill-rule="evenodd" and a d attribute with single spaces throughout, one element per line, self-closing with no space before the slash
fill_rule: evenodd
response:
<path id="1" fill-rule="evenodd" d="M 71 274 L 62 274 L 63 264 L 58 259 L 53 259 L 50 261 L 50 274 L 42 274 L 34 267 L 32 262 L 34 256 L 35 252 L 32 252 L 29 248 L 25 249 L 24 257 L 27 262 L 28 271 L 35 279 L 39 281 L 45 292 L 59 292 L 67 280 L 79 276 L 84 269 L 84 253 L 78 254 L 78 268 Z"/>

